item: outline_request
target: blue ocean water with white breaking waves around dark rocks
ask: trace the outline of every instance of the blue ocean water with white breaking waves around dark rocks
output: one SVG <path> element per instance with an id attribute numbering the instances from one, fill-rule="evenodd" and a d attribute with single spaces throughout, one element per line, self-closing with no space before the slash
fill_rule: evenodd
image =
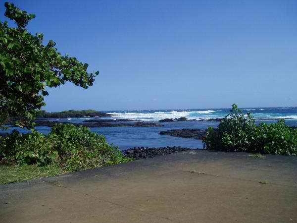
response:
<path id="1" fill-rule="evenodd" d="M 297 107 L 283 108 L 245 108 L 242 109 L 245 113 L 251 112 L 258 122 L 275 123 L 280 118 L 285 118 L 285 121 L 290 126 L 297 126 Z M 92 131 L 103 134 L 109 143 L 118 146 L 120 150 L 133 147 L 164 147 L 164 146 L 182 146 L 187 148 L 203 148 L 201 140 L 178 138 L 167 135 L 159 135 L 160 131 L 182 128 L 199 128 L 206 129 L 209 126 L 216 127 L 219 122 L 206 121 L 210 118 L 222 118 L 229 113 L 230 109 L 179 109 L 179 110 L 137 110 L 137 111 L 104 111 L 111 113 L 114 116 L 106 119 L 129 118 L 135 121 L 158 121 L 164 118 L 179 118 L 187 117 L 189 119 L 203 119 L 203 121 L 189 122 L 168 122 L 161 123 L 163 127 L 104 127 L 91 128 Z M 80 123 L 86 118 L 60 118 L 51 119 L 56 121 L 68 121 Z M 13 127 L 5 132 L 10 132 L 12 129 L 17 129 L 20 132 L 29 132 L 20 128 Z M 36 127 L 40 132 L 48 134 L 49 127 Z"/>

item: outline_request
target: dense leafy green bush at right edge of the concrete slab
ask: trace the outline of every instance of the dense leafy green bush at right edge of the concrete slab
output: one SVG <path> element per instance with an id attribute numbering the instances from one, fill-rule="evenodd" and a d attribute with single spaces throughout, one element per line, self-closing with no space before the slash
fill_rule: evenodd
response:
<path id="1" fill-rule="evenodd" d="M 297 155 L 296 128 L 287 126 L 283 119 L 256 126 L 252 115 L 244 114 L 236 104 L 217 129 L 207 129 L 203 141 L 208 150 Z"/>

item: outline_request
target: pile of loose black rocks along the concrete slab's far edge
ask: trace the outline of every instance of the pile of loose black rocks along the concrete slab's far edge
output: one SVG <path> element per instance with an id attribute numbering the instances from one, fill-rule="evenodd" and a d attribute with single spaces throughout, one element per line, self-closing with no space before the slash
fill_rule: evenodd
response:
<path id="1" fill-rule="evenodd" d="M 134 160 L 139 159 L 147 159 L 152 157 L 158 157 L 158 156 L 164 156 L 168 154 L 174 154 L 179 153 L 183 151 L 192 150 L 189 148 L 184 148 L 180 146 L 174 146 L 174 147 L 158 147 L 158 148 L 144 148 L 144 147 L 134 147 L 133 149 L 128 149 L 122 151 L 123 155 L 132 158 Z"/>

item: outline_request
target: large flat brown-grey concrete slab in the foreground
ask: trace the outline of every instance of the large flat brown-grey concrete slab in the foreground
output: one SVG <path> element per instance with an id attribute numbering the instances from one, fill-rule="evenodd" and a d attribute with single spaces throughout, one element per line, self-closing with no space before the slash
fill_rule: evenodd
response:
<path id="1" fill-rule="evenodd" d="M 188 151 L 2 185 L 0 222 L 294 223 L 297 158 Z"/>

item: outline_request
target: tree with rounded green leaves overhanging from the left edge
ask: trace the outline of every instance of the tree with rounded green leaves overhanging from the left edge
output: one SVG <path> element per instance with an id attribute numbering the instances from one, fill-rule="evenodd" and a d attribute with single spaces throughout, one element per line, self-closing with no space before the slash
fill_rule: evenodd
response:
<path id="1" fill-rule="evenodd" d="M 43 34 L 32 35 L 26 29 L 35 18 L 5 2 L 5 16 L 17 27 L 0 22 L 0 126 L 8 117 L 22 117 L 17 124 L 30 126 L 36 113 L 45 106 L 46 87 L 57 87 L 67 81 L 77 86 L 92 86 L 99 71 L 88 73 L 87 63 L 75 57 L 61 56 L 50 40 L 43 45 Z"/>

